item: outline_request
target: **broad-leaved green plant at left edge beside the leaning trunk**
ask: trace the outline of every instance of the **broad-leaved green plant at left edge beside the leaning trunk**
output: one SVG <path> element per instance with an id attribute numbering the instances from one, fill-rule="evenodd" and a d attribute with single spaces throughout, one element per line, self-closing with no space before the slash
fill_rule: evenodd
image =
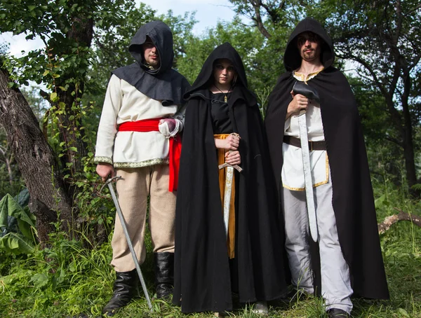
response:
<path id="1" fill-rule="evenodd" d="M 35 216 L 27 207 L 29 192 L 15 198 L 10 194 L 0 200 L 0 251 L 9 254 L 31 254 L 35 244 Z"/>

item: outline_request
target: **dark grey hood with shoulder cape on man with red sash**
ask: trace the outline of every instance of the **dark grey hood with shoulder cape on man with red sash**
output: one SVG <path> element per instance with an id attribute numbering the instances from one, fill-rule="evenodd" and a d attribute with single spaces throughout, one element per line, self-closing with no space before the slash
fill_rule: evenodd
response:
<path id="1" fill-rule="evenodd" d="M 149 69 L 145 65 L 142 44 L 147 36 L 159 53 L 160 66 Z M 152 99 L 161 100 L 163 106 L 182 104 L 182 95 L 190 87 L 187 79 L 172 69 L 174 51 L 171 29 L 161 21 L 152 21 L 138 29 L 128 47 L 136 62 L 112 71 L 112 74 L 133 85 Z"/>

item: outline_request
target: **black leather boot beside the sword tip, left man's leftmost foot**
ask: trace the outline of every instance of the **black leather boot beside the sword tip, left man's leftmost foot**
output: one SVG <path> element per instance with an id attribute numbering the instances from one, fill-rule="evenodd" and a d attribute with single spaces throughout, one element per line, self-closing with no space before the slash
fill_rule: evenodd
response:
<path id="1" fill-rule="evenodd" d="M 102 314 L 114 316 L 114 314 L 126 306 L 136 295 L 138 275 L 136 269 L 130 272 L 116 272 L 116 281 L 113 286 L 113 295 L 107 305 L 102 309 Z"/>

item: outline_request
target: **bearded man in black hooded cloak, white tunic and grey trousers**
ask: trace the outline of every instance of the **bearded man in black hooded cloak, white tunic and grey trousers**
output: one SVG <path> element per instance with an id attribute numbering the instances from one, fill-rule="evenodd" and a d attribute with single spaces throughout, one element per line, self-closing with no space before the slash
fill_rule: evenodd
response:
<path id="1" fill-rule="evenodd" d="M 320 23 L 302 20 L 288 40 L 287 71 L 269 99 L 265 125 L 285 218 L 291 283 L 307 293 L 320 292 L 328 317 L 349 317 L 353 294 L 388 298 L 389 293 L 359 114 L 345 76 L 332 66 L 334 57 Z M 320 104 L 294 94 L 297 81 L 316 90 Z M 298 124 L 302 110 L 307 111 L 316 243 L 309 236 Z M 311 245 L 319 253 L 312 253 Z"/>

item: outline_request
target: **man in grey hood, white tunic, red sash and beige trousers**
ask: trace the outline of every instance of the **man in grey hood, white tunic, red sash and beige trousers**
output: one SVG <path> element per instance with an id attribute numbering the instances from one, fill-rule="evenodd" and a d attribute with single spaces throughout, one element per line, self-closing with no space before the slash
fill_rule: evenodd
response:
<path id="1" fill-rule="evenodd" d="M 102 109 L 95 151 L 97 172 L 114 174 L 119 204 L 138 262 L 145 261 L 145 226 L 154 250 L 156 297 L 172 293 L 175 191 L 180 136 L 184 122 L 182 94 L 187 80 L 171 69 L 173 35 L 161 21 L 140 27 L 129 46 L 136 62 L 112 71 Z M 112 237 L 114 294 L 102 312 L 112 316 L 135 296 L 137 272 L 118 217 Z"/>

